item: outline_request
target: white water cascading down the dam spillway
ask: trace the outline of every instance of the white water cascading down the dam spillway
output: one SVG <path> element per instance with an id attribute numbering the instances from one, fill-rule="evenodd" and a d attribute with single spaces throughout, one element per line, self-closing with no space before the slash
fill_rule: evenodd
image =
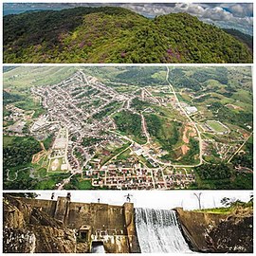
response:
<path id="1" fill-rule="evenodd" d="M 136 209 L 137 237 L 141 252 L 192 252 L 178 227 L 174 210 Z"/>

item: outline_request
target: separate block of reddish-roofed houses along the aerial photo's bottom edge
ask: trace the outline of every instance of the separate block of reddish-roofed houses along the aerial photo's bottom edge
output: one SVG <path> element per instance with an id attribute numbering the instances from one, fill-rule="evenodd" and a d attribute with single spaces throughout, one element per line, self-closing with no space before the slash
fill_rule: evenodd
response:
<path id="1" fill-rule="evenodd" d="M 146 168 L 140 163 L 131 167 L 109 164 L 101 170 L 86 170 L 83 179 L 90 180 L 92 186 L 113 190 L 170 190 L 185 189 L 194 182 L 194 174 L 173 172 L 163 174 L 161 168 Z"/>

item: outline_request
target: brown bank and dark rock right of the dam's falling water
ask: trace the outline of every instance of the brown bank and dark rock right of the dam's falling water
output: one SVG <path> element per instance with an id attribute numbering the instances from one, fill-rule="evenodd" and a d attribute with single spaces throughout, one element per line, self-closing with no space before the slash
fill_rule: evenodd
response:
<path id="1" fill-rule="evenodd" d="M 252 252 L 253 216 L 176 209 L 181 229 L 192 249 L 201 252 Z"/>

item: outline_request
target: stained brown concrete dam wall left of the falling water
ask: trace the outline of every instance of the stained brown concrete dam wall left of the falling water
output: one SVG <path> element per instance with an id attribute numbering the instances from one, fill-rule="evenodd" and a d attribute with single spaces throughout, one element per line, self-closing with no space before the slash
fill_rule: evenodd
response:
<path id="1" fill-rule="evenodd" d="M 20 198 L 31 207 L 44 210 L 62 221 L 68 229 L 90 227 L 90 240 L 101 240 L 107 252 L 137 252 L 134 205 L 112 206 L 98 203 L 70 202 L 67 197 L 57 201 Z M 90 241 L 88 241 L 90 242 Z"/>

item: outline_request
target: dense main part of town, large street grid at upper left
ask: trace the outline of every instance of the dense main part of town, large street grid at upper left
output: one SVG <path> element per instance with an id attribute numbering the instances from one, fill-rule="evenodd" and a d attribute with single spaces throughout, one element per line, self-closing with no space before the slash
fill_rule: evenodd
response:
<path id="1" fill-rule="evenodd" d="M 84 154 L 90 148 L 82 145 L 84 137 L 97 138 L 101 142 L 115 140 L 117 137 L 102 133 L 115 126 L 112 119 L 104 115 L 101 119 L 94 117 L 111 104 L 124 101 L 125 96 L 96 78 L 85 76 L 82 71 L 78 71 L 57 84 L 31 88 L 31 92 L 42 99 L 47 116 L 36 119 L 30 131 L 36 134 L 51 129 L 54 123 L 59 124 L 59 129 L 65 127 L 68 131 L 65 155 L 70 170 L 75 171 L 82 167 L 81 159 L 74 155 L 73 150 L 80 147 L 81 153 Z M 89 156 L 86 153 L 85 155 Z"/>

